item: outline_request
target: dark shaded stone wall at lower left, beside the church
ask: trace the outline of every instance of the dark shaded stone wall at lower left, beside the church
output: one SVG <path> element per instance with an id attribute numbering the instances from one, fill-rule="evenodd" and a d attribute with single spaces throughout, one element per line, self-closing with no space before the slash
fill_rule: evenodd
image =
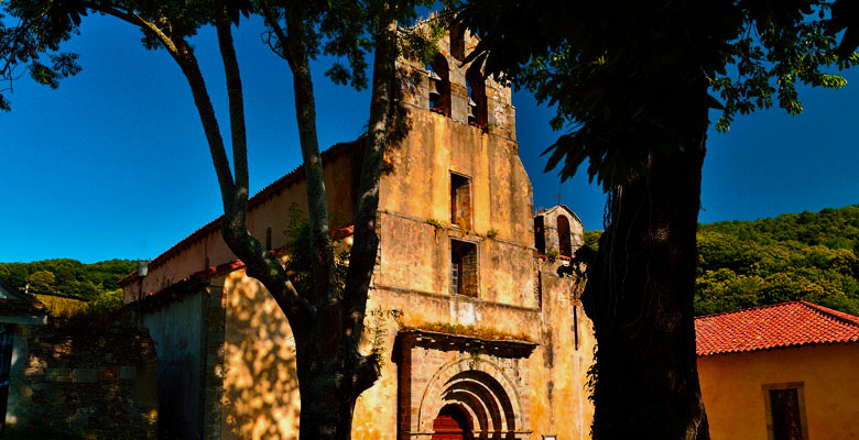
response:
<path id="1" fill-rule="evenodd" d="M 7 424 L 154 439 L 155 364 L 145 330 L 100 323 L 19 326 Z"/>

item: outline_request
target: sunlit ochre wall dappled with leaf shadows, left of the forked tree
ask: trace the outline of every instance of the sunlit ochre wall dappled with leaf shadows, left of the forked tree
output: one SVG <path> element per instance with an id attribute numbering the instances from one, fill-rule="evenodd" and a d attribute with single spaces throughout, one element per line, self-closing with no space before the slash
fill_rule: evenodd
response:
<path id="1" fill-rule="evenodd" d="M 244 271 L 229 276 L 224 439 L 297 439 L 295 341 L 278 304 Z"/>

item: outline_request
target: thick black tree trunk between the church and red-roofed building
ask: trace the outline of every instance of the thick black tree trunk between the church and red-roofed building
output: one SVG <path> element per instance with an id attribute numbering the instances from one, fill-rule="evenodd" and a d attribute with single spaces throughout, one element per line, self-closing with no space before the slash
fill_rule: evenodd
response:
<path id="1" fill-rule="evenodd" d="M 651 156 L 609 196 L 583 294 L 597 337 L 598 440 L 709 439 L 693 310 L 706 134 L 694 138 L 683 152 Z"/>

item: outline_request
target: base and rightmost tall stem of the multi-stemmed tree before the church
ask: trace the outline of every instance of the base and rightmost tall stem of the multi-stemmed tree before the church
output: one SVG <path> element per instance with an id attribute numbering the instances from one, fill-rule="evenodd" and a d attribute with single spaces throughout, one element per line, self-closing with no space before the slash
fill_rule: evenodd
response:
<path id="1" fill-rule="evenodd" d="M 380 375 L 378 360 L 358 351 L 368 289 L 378 252 L 376 215 L 379 179 L 392 111 L 396 23 L 382 20 L 376 34 L 370 122 L 355 211 L 355 245 L 350 253 L 342 330 L 330 338 L 331 324 L 317 320 L 306 338 L 296 338 L 298 388 L 302 396 L 301 439 L 348 440 L 358 396 Z"/>

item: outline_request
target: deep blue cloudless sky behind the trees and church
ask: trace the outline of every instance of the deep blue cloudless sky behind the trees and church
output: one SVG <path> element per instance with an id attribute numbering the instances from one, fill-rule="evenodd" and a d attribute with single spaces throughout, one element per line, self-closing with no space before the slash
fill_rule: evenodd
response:
<path id="1" fill-rule="evenodd" d="M 300 165 L 292 78 L 260 43 L 259 23 L 237 32 L 248 114 L 251 190 Z M 222 66 L 214 33 L 195 37 L 218 111 Z M 66 50 L 84 70 L 59 89 L 14 84 L 12 112 L 0 113 L 0 261 L 72 257 L 152 258 L 220 213 L 220 198 L 191 92 L 163 51 L 148 52 L 140 33 L 108 18 L 87 19 Z M 317 63 L 320 146 L 357 138 L 369 95 L 331 85 Z M 859 72 L 839 91 L 803 89 L 805 113 L 780 109 L 739 118 L 728 134 L 711 132 L 704 166 L 702 222 L 753 220 L 859 202 Z M 540 153 L 557 133 L 553 112 L 514 92 L 520 155 L 536 207 L 557 201 L 586 229 L 602 228 L 605 196 L 584 174 L 561 185 L 543 173 Z M 229 139 L 228 121 L 221 121 Z"/>

